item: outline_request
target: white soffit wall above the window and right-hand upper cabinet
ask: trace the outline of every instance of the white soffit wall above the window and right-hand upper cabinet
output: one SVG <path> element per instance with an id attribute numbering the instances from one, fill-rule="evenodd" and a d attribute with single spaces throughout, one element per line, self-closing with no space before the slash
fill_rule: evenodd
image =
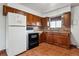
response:
<path id="1" fill-rule="evenodd" d="M 71 11 L 70 6 L 60 8 L 60 9 L 56 9 L 54 11 L 47 12 L 47 13 L 45 13 L 43 15 L 48 16 L 48 17 L 52 17 L 52 16 L 54 17 L 54 16 L 59 16 L 59 15 L 63 14 L 64 12 L 68 12 L 68 11 Z"/>

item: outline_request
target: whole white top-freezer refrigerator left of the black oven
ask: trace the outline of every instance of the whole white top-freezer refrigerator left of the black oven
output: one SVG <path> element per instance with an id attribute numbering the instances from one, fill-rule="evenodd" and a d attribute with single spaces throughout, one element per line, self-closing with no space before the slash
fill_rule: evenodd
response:
<path id="1" fill-rule="evenodd" d="M 14 56 L 28 49 L 26 39 L 26 16 L 8 13 L 6 16 L 6 52 Z"/>

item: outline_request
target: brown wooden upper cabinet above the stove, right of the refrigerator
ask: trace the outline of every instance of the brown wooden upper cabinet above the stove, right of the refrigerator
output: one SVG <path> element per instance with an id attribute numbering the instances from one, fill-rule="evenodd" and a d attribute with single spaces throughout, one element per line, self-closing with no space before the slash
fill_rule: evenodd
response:
<path id="1" fill-rule="evenodd" d="M 41 17 L 27 14 L 27 25 L 41 26 Z"/>

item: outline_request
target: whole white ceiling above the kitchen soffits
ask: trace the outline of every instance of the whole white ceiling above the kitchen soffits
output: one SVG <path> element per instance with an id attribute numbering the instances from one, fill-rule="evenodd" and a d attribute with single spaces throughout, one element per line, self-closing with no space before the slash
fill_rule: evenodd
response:
<path id="1" fill-rule="evenodd" d="M 71 3 L 22 3 L 22 5 L 27 6 L 37 12 L 46 13 L 52 10 L 63 8 L 66 6 L 74 6 L 76 4 Z"/>

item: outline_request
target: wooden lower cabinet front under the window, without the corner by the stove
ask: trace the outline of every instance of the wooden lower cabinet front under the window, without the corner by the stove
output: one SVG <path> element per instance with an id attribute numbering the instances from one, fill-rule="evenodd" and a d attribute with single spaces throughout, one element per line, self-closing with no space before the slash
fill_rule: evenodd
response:
<path id="1" fill-rule="evenodd" d="M 55 44 L 64 48 L 70 48 L 69 33 L 47 33 L 46 37 L 46 42 L 49 44 Z"/>

